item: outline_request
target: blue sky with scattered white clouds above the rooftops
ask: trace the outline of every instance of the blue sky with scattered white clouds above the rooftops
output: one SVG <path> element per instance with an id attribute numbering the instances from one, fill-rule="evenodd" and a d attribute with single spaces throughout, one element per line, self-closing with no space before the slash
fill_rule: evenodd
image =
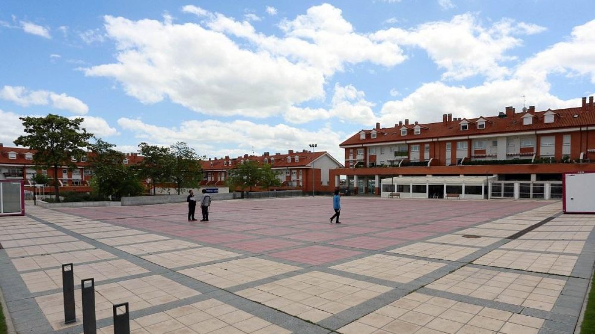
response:
<path id="1" fill-rule="evenodd" d="M 124 153 L 325 150 L 443 114 L 581 105 L 592 0 L 0 2 L 0 143 L 23 116 L 84 118 Z"/>

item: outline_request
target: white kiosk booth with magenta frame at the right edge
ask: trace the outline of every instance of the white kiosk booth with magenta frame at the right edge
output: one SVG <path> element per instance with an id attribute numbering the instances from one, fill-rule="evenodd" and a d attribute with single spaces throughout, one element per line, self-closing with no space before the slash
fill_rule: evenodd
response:
<path id="1" fill-rule="evenodd" d="M 595 171 L 562 174 L 562 211 L 595 213 Z"/>

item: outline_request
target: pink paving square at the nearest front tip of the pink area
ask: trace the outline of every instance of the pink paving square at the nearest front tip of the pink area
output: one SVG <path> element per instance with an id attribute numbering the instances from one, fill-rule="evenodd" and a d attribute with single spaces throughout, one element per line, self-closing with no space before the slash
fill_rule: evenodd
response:
<path id="1" fill-rule="evenodd" d="M 279 251 L 268 255 L 277 257 L 278 259 L 316 265 L 346 259 L 347 257 L 352 257 L 361 253 L 362 252 L 359 251 L 342 250 L 316 245 L 297 248 L 295 250 Z"/>

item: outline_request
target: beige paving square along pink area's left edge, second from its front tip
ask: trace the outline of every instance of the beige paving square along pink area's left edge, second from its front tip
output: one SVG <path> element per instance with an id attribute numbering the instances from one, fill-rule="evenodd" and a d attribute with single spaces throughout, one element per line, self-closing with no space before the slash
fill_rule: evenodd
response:
<path id="1" fill-rule="evenodd" d="M 168 253 L 159 253 L 154 255 L 141 256 L 147 261 L 159 264 L 169 269 L 192 264 L 201 264 L 209 261 L 229 259 L 230 257 L 240 256 L 226 250 L 219 250 L 212 247 L 192 248 L 189 250 L 172 251 Z"/>

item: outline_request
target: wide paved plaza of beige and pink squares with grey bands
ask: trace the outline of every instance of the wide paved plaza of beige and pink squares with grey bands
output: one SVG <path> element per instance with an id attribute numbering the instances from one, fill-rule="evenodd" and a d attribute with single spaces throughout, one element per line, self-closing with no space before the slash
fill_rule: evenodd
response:
<path id="1" fill-rule="evenodd" d="M 343 197 L 43 209 L 0 218 L 0 288 L 18 333 L 98 333 L 130 303 L 132 333 L 573 333 L 595 215 L 560 201 Z M 64 324 L 61 264 L 77 322 Z"/>

